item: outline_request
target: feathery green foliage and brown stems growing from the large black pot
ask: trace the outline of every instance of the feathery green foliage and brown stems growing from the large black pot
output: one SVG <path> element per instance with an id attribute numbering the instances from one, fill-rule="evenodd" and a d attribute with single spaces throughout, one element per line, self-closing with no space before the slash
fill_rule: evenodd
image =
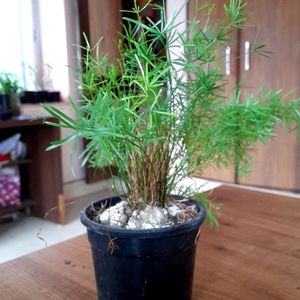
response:
<path id="1" fill-rule="evenodd" d="M 225 22 L 210 24 L 208 17 L 204 27 L 194 21 L 181 33 L 176 31 L 180 25 L 176 13 L 166 19 L 164 9 L 155 8 L 161 14 L 156 23 L 143 23 L 143 8 L 136 4 L 130 17 L 124 17 L 124 42 L 119 43 L 121 58 L 116 64 L 101 54 L 101 41 L 91 47 L 86 40 L 81 100 L 70 100 L 75 119 L 44 105 L 60 121 L 50 125 L 72 129 L 49 149 L 86 138 L 84 162 L 95 168 L 117 166 L 132 206 L 164 206 L 167 195 L 196 168 L 237 159 L 245 170 L 247 153 L 256 141 L 267 142 L 277 126 L 292 129 L 300 122 L 299 100 L 286 102 L 279 91 L 261 90 L 244 102 L 238 89 L 230 99 L 224 97 L 220 50 L 234 42 L 229 38 L 233 30 L 246 26 L 246 5 L 241 0 L 224 6 Z M 184 53 L 171 60 L 178 43 Z M 252 51 L 267 53 L 261 45 Z M 209 208 L 210 222 L 217 225 L 215 209 L 205 198 L 201 201 Z"/>

